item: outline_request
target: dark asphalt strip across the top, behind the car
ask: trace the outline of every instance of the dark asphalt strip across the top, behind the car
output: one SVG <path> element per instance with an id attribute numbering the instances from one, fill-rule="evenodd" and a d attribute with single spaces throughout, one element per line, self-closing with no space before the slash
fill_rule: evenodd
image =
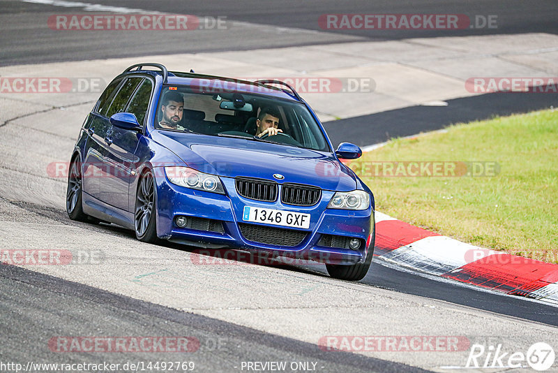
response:
<path id="1" fill-rule="evenodd" d="M 50 1 L 50 0 L 47 0 Z M 80 2 L 77 2 L 80 3 Z M 0 1 L 0 66 L 51 61 L 132 57 L 146 54 L 178 54 L 224 50 L 252 50 L 295 45 L 382 41 L 439 36 L 558 34 L 558 7 L 554 0 L 471 1 L 83 1 L 171 14 L 225 17 L 227 29 L 195 31 L 59 31 L 49 29 L 50 15 L 93 14 L 83 6 L 52 6 L 44 3 Z M 108 12 L 97 12 L 106 14 Z M 496 28 L 379 30 L 322 29 L 324 14 L 463 14 L 497 16 Z M 235 23 L 245 22 L 245 23 Z M 250 24 L 246 24 L 249 22 Z M 270 56 L 273 58 L 273 56 Z"/>

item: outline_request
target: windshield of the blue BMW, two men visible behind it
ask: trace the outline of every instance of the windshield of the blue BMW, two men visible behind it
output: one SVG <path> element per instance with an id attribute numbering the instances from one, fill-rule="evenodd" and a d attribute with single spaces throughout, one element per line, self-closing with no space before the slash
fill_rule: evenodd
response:
<path id="1" fill-rule="evenodd" d="M 188 86 L 173 85 L 163 87 L 157 111 L 155 128 L 160 130 L 331 152 L 317 122 L 302 103 L 239 92 L 193 92 Z M 277 130 L 271 131 L 269 126 Z"/>

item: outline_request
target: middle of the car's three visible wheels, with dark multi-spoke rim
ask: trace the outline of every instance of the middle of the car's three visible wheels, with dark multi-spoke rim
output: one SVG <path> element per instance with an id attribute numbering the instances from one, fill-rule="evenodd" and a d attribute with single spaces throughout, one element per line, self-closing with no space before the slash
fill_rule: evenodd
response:
<path id="1" fill-rule="evenodd" d="M 151 171 L 146 171 L 140 178 L 135 197 L 135 237 L 142 242 L 156 243 L 156 200 L 155 180 Z"/>

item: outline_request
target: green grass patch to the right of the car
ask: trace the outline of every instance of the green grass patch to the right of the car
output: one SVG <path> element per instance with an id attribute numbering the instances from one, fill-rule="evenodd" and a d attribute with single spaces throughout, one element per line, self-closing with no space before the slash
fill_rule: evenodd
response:
<path id="1" fill-rule="evenodd" d="M 381 177 L 362 171 L 375 170 L 370 162 L 378 161 L 492 162 L 499 173 Z M 476 246 L 558 263 L 558 110 L 391 140 L 349 166 L 370 186 L 380 212 Z"/>

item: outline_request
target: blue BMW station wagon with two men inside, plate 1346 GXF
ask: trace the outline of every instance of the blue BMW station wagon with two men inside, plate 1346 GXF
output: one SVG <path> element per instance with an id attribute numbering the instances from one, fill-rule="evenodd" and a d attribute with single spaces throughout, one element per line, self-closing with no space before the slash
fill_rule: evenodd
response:
<path id="1" fill-rule="evenodd" d="M 361 154 L 333 150 L 284 82 L 137 64 L 82 125 L 66 210 L 144 242 L 305 258 L 358 281 L 372 262 L 374 196 L 340 160 Z"/>

